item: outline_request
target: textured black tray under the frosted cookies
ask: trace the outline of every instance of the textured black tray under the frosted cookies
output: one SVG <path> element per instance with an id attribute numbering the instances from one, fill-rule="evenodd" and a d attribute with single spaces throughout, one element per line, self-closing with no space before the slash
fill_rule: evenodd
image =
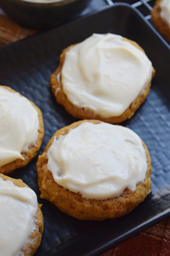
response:
<path id="1" fill-rule="evenodd" d="M 60 106 L 49 79 L 63 48 L 92 33 L 115 33 L 135 40 L 145 49 L 156 69 L 150 93 L 136 114 L 122 125 L 135 131 L 152 158 L 152 192 L 130 214 L 104 221 L 80 221 L 39 198 L 37 157 L 10 176 L 21 178 L 43 203 L 44 233 L 36 256 L 98 255 L 169 216 L 169 48 L 151 25 L 126 4 L 29 37 L 0 49 L 0 84 L 32 100 L 42 111 L 45 126 L 42 154 L 48 140 L 63 126 L 76 121 Z"/>

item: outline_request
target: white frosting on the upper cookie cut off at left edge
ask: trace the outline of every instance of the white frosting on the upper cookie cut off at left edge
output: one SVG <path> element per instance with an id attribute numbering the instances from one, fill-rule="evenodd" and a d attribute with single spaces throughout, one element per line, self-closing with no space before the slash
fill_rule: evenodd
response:
<path id="1" fill-rule="evenodd" d="M 0 167 L 28 152 L 39 130 L 38 112 L 25 97 L 0 87 Z"/>

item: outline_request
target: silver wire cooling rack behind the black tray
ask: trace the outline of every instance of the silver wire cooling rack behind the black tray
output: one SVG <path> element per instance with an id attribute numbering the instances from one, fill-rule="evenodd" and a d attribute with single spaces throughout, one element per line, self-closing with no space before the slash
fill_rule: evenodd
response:
<path id="1" fill-rule="evenodd" d="M 151 18 L 150 12 L 155 3 L 155 0 L 141 0 L 136 2 L 135 0 L 105 0 L 109 5 L 114 5 L 114 3 L 124 2 L 130 4 L 133 8 L 138 9 L 146 20 Z"/>

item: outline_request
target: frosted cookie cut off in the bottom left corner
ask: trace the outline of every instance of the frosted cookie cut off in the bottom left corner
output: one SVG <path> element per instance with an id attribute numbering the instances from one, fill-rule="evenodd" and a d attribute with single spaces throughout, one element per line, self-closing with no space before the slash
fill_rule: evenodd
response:
<path id="1" fill-rule="evenodd" d="M 43 215 L 35 192 L 0 173 L 0 255 L 31 256 L 40 246 Z"/>

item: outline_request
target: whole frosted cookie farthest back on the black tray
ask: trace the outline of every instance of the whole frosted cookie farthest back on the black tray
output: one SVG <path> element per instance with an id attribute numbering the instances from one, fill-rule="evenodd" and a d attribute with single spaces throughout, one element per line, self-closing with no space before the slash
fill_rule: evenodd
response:
<path id="1" fill-rule="evenodd" d="M 50 86 L 72 116 L 120 123 L 145 100 L 154 73 L 136 42 L 110 33 L 93 34 L 62 51 Z"/>

